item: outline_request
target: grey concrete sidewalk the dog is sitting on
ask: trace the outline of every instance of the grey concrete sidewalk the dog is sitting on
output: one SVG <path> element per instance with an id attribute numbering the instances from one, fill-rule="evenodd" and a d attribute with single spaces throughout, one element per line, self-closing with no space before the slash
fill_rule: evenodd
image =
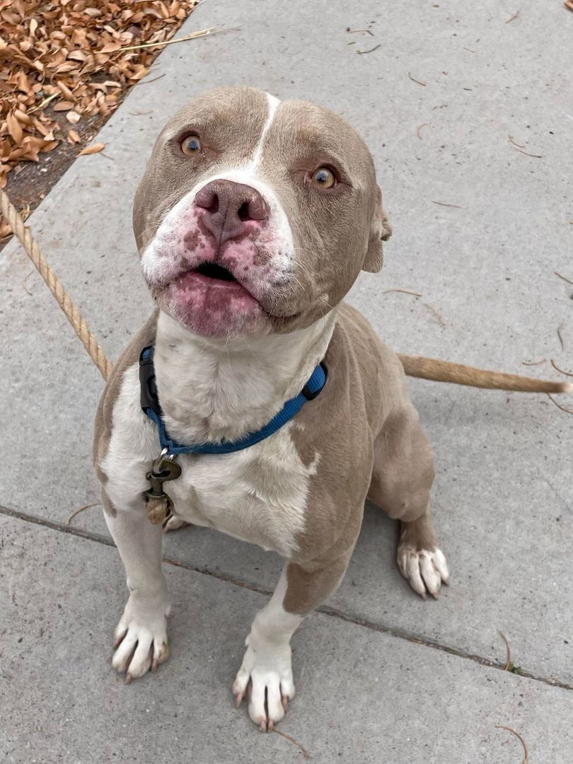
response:
<path id="1" fill-rule="evenodd" d="M 573 14 L 536 0 L 506 24 L 507 2 L 435 5 L 209 0 L 193 13 L 181 35 L 241 31 L 166 47 L 149 79 L 165 76 L 136 86 L 99 134 L 107 156 L 80 157 L 30 219 L 111 358 L 150 310 L 131 200 L 154 138 L 196 92 L 244 83 L 329 105 L 364 134 L 394 236 L 351 302 L 393 348 L 538 376 L 558 376 L 549 358 L 573 367 L 573 287 L 554 275 L 573 278 Z M 17 243 L 0 254 L 0 753 L 18 764 L 302 761 L 231 708 L 274 555 L 206 529 L 171 534 L 172 657 L 130 687 L 112 672 L 118 555 L 99 507 L 66 533 L 98 500 L 102 380 L 40 277 L 32 296 L 22 288 L 30 270 Z M 384 293 L 396 288 L 422 297 Z M 573 420 L 546 397 L 411 389 L 437 455 L 452 586 L 419 601 L 395 568 L 393 523 L 368 508 L 330 613 L 295 639 L 297 698 L 280 729 L 317 762 L 517 764 L 521 744 L 502 724 L 523 734 L 530 764 L 568 764 Z M 523 675 L 500 671 L 500 630 Z"/>

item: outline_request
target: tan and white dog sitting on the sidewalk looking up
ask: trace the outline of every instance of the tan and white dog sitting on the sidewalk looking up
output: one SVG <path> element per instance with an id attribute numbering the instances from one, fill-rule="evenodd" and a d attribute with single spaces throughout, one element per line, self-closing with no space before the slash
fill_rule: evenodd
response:
<path id="1" fill-rule="evenodd" d="M 251 719 L 272 730 L 295 691 L 290 639 L 345 575 L 366 499 L 400 520 L 397 562 L 413 590 L 438 597 L 448 584 L 432 448 L 406 373 L 565 386 L 399 357 L 343 302 L 361 270 L 380 270 L 391 229 L 364 141 L 321 106 L 252 88 L 199 95 L 157 138 L 133 223 L 156 307 L 113 368 L 94 442 L 129 589 L 112 665 L 131 681 L 169 655 L 162 520 L 273 549 L 283 573 L 233 684 L 237 704 L 248 697 Z M 315 372 L 320 390 L 301 398 Z M 293 400 L 295 416 L 241 447 Z M 165 448 L 157 462 L 160 429 L 170 448 L 203 451 Z M 225 444 L 239 447 L 216 452 Z"/>

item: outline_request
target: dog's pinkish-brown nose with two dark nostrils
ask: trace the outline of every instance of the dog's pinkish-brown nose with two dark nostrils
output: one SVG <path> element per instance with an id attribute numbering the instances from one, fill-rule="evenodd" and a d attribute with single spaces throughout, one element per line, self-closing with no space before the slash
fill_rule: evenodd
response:
<path id="1" fill-rule="evenodd" d="M 269 208 L 257 189 L 232 180 L 212 180 L 195 196 L 202 222 L 219 244 L 247 233 L 250 220 L 267 220 Z"/>

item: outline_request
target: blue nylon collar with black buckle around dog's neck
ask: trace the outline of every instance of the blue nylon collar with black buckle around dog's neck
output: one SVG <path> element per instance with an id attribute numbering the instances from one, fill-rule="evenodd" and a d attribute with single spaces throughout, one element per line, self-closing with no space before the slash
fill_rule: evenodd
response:
<path id="1" fill-rule="evenodd" d="M 303 390 L 294 398 L 287 400 L 283 408 L 277 413 L 270 422 L 261 427 L 257 432 L 249 432 L 238 441 L 228 442 L 223 440 L 220 443 L 195 443 L 193 445 L 181 445 L 174 441 L 167 434 L 165 422 L 163 422 L 163 412 L 157 397 L 157 386 L 155 384 L 154 369 L 154 347 L 147 346 L 141 351 L 139 357 L 139 381 L 141 386 L 141 408 L 144 413 L 152 419 L 157 425 L 159 433 L 159 442 L 161 450 L 167 448 L 173 455 L 177 454 L 230 454 L 235 451 L 241 451 L 250 445 L 261 442 L 269 435 L 273 435 L 293 416 L 303 408 L 307 400 L 314 400 L 325 386 L 327 377 L 326 367 L 321 362 L 312 372 L 308 382 Z"/>

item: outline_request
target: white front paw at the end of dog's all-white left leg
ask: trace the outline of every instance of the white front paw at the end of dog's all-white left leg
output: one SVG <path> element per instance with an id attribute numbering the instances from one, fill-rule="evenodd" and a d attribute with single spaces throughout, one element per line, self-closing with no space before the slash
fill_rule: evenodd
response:
<path id="1" fill-rule="evenodd" d="M 160 663 L 169 658 L 167 643 L 167 595 L 139 597 L 131 594 L 128 604 L 115 629 L 112 666 L 115 671 L 125 672 L 129 684 L 157 670 Z"/>

